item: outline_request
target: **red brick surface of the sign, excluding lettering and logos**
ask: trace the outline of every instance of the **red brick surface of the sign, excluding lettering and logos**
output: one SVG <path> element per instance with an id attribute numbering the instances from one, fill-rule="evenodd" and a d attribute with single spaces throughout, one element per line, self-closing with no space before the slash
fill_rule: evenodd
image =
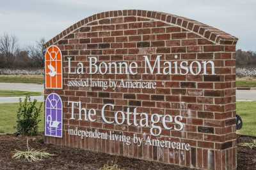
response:
<path id="1" fill-rule="evenodd" d="M 63 54 L 63 90 L 45 89 L 45 96 L 51 92 L 60 94 L 64 117 L 63 138 L 45 137 L 46 143 L 200 169 L 236 169 L 236 41 L 209 25 L 153 11 L 108 11 L 77 22 L 46 44 L 58 45 Z M 136 61 L 144 69 L 143 55 L 152 61 L 156 55 L 162 55 L 163 61 L 213 60 L 216 75 L 67 74 L 67 57 L 74 59 L 72 66 L 83 62 L 87 69 L 91 56 L 106 62 Z M 157 82 L 157 88 L 67 87 L 67 81 L 74 78 L 152 80 Z M 67 101 L 81 101 L 84 108 L 96 109 L 97 122 L 70 120 Z M 163 131 L 161 136 L 154 137 L 148 128 L 104 124 L 100 110 L 106 103 L 113 103 L 116 110 L 137 107 L 138 112 L 181 115 L 184 129 Z M 108 115 L 113 119 L 113 112 Z M 189 143 L 191 150 L 80 139 L 68 136 L 68 127 L 116 131 L 128 136 L 136 133 L 141 137 L 145 132 L 150 138 Z"/>

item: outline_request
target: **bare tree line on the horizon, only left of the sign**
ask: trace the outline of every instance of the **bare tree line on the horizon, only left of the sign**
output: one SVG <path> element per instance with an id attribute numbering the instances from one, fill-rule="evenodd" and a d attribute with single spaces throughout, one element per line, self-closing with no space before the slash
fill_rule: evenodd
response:
<path id="1" fill-rule="evenodd" d="M 0 36 L 0 68 L 42 68 L 44 67 L 44 44 L 41 38 L 34 45 L 19 47 L 16 36 L 4 33 Z"/>

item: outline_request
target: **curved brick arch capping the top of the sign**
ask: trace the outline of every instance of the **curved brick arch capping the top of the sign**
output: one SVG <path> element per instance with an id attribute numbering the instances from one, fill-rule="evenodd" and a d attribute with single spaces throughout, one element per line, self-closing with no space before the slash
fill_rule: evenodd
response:
<path id="1" fill-rule="evenodd" d="M 115 17 L 143 17 L 143 18 L 151 18 L 154 20 L 159 20 L 165 22 L 166 24 L 172 24 L 182 29 L 186 29 L 190 32 L 201 36 L 202 38 L 208 39 L 212 41 L 212 43 L 216 45 L 236 45 L 237 38 L 228 34 L 227 32 L 220 31 L 220 29 L 216 29 L 209 25 L 203 24 L 196 20 L 191 20 L 185 17 L 179 17 L 177 15 L 172 15 L 170 13 L 163 13 L 158 11 L 146 11 L 146 10 L 117 10 L 117 11 L 105 11 L 102 13 L 97 13 L 90 17 L 84 18 L 80 20 L 74 25 L 71 25 L 60 34 L 52 38 L 51 40 L 45 43 L 45 48 L 50 45 L 53 45 L 60 41 L 60 39 L 64 38 L 68 34 L 76 31 L 80 27 L 84 25 L 92 24 L 95 21 L 102 20 L 104 18 L 115 18 Z"/>

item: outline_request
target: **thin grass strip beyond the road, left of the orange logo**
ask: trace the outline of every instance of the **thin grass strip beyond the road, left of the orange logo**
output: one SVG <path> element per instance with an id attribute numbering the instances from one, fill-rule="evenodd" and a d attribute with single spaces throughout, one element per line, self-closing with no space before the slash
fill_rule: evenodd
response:
<path id="1" fill-rule="evenodd" d="M 36 83 L 43 84 L 44 76 L 40 75 L 1 75 L 0 83 Z"/>

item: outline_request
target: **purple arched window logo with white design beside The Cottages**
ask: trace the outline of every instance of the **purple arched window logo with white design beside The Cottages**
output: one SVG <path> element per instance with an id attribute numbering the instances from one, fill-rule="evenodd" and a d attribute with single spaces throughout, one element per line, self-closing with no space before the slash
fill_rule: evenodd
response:
<path id="1" fill-rule="evenodd" d="M 45 100 L 45 136 L 62 138 L 62 101 L 56 93 Z"/>

